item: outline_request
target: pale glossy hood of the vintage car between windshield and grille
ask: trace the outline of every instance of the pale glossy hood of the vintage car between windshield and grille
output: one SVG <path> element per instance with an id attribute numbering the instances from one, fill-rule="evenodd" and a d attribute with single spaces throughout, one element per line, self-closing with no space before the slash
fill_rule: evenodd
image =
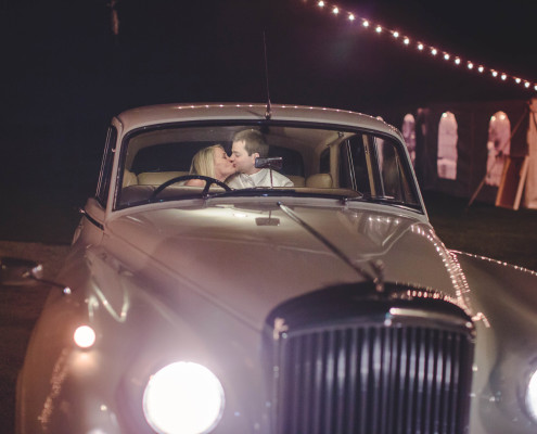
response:
<path id="1" fill-rule="evenodd" d="M 286 299 L 367 280 L 359 269 L 376 276 L 372 263 L 378 260 L 386 281 L 432 288 L 468 307 L 457 264 L 413 212 L 290 203 L 301 224 L 276 201 L 163 205 L 106 222 L 110 240 L 127 244 L 116 255 L 128 263 L 135 251 L 141 253 L 143 267 L 158 263 L 178 284 L 190 285 L 255 328 Z"/>

